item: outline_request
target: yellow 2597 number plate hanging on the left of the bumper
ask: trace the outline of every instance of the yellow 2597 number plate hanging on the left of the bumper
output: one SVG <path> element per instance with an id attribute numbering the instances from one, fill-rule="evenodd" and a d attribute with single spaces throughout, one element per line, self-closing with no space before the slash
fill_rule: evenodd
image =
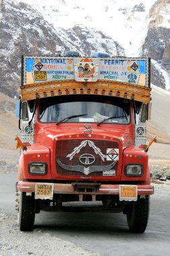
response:
<path id="1" fill-rule="evenodd" d="M 52 199 L 53 183 L 36 183 L 35 199 Z"/>

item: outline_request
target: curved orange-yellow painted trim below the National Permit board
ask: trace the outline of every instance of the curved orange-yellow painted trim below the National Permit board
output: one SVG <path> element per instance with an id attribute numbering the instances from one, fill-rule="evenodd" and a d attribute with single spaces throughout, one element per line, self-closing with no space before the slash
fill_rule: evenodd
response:
<path id="1" fill-rule="evenodd" d="M 60 95 L 94 94 L 114 96 L 149 103 L 151 88 L 129 84 L 100 80 L 97 82 L 75 82 L 75 80 L 42 82 L 21 86 L 22 101 L 34 100 Z"/>

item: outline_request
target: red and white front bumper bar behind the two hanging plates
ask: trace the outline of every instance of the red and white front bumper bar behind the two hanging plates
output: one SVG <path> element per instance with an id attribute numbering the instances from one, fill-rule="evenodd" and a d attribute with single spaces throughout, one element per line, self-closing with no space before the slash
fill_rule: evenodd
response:
<path id="1" fill-rule="evenodd" d="M 42 183 L 43 184 L 43 183 Z M 94 183 L 95 185 L 95 183 Z M 101 185 L 97 184 L 95 189 L 88 183 L 83 186 L 83 183 L 79 183 L 77 186 L 75 183 L 54 183 L 53 194 L 72 194 L 72 195 L 120 195 L 120 186 L 128 185 Z M 134 185 L 132 185 L 134 186 Z M 77 189 L 78 188 L 78 189 Z M 81 188 L 81 191 L 79 190 Z M 84 188 L 84 189 L 83 189 Z M 19 181 L 17 183 L 17 190 L 27 193 L 34 193 L 36 189 L 35 182 Z M 152 195 L 154 193 L 154 187 L 151 185 L 136 185 L 137 195 Z"/>

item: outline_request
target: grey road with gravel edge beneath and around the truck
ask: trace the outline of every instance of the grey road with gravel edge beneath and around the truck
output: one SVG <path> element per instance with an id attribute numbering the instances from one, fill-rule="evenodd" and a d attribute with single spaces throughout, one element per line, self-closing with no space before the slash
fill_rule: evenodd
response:
<path id="1" fill-rule="evenodd" d="M 131 234 L 123 214 L 48 213 L 36 216 L 32 232 L 16 224 L 16 173 L 0 173 L 0 256 L 138 255 L 164 256 L 170 251 L 170 182 L 155 184 L 144 234 Z"/>

